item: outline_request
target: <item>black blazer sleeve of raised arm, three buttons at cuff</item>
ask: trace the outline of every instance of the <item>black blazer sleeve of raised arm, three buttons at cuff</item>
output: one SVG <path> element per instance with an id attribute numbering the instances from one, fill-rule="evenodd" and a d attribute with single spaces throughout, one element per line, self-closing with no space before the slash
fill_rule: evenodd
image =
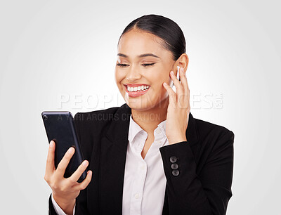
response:
<path id="1" fill-rule="evenodd" d="M 218 138 L 197 175 L 187 141 L 159 148 L 166 176 L 169 214 L 226 214 L 232 196 L 234 133 Z"/>

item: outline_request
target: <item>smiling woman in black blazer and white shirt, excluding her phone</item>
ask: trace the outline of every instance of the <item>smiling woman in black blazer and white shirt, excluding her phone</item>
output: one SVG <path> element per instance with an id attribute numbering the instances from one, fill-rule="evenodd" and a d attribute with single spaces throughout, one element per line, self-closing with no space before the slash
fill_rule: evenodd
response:
<path id="1" fill-rule="evenodd" d="M 125 28 L 117 49 L 115 81 L 126 103 L 74 116 L 86 160 L 70 178 L 63 173 L 74 149 L 55 169 L 51 141 L 49 213 L 226 214 L 234 133 L 192 117 L 180 27 L 143 15 Z"/>

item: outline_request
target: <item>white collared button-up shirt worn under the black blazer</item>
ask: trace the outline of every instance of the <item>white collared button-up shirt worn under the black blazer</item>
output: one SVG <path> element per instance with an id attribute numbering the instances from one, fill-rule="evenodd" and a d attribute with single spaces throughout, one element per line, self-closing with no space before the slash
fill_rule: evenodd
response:
<path id="1" fill-rule="evenodd" d="M 130 117 L 124 173 L 123 215 L 162 214 L 166 177 L 159 148 L 169 145 L 166 138 L 166 120 L 158 124 L 154 136 L 155 139 L 143 159 L 141 152 L 148 133 L 133 121 L 132 116 Z M 65 215 L 53 200 L 53 195 L 52 202 L 55 211 L 59 215 Z"/>

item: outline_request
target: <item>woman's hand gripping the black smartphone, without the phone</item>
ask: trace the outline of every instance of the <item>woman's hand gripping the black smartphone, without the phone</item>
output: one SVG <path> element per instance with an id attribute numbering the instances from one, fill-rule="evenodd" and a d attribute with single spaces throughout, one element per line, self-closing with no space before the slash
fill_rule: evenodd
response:
<path id="1" fill-rule="evenodd" d="M 72 176 L 69 178 L 63 177 L 72 155 L 74 155 L 73 147 L 67 150 L 57 169 L 55 169 L 55 142 L 50 142 L 44 179 L 53 191 L 55 202 L 65 211 L 65 214 L 72 214 L 76 197 L 79 195 L 80 190 L 84 190 L 89 185 L 92 176 L 92 171 L 89 170 L 84 181 L 77 182 L 89 164 L 87 160 L 84 160 Z"/>

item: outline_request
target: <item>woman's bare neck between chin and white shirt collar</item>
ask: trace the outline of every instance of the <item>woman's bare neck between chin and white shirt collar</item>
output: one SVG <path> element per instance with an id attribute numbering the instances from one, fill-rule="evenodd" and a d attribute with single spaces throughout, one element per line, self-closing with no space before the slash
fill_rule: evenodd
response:
<path id="1" fill-rule="evenodd" d="M 133 120 L 148 134 L 153 134 L 157 125 L 166 119 L 169 97 L 162 100 L 150 110 L 140 111 L 131 109 Z"/>

